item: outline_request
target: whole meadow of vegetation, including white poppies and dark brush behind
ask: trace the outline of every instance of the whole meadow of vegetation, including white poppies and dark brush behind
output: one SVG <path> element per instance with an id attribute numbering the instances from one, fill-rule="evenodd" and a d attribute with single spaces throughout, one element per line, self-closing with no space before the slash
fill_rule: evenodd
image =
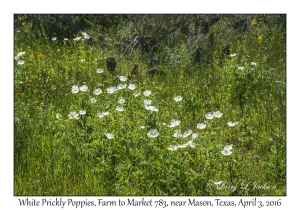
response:
<path id="1" fill-rule="evenodd" d="M 286 195 L 284 15 L 14 18 L 15 195 Z"/>

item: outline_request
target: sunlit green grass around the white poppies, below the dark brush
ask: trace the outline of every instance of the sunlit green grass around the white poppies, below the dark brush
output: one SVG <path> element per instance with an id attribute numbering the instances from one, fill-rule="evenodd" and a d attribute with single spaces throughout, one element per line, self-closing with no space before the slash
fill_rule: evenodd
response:
<path id="1" fill-rule="evenodd" d="M 220 31 L 223 24 L 212 30 Z M 148 78 L 142 75 L 147 64 L 138 49 L 124 57 L 110 46 L 75 42 L 76 35 L 62 43 L 37 35 L 28 23 L 16 25 L 15 55 L 25 54 L 20 56 L 24 64 L 15 61 L 14 69 L 14 194 L 286 195 L 286 40 L 285 31 L 276 27 L 257 23 L 245 34 L 216 34 L 209 65 L 193 64 L 186 42 L 160 49 L 165 59 L 158 68 L 166 75 Z M 107 36 L 113 40 L 113 34 Z M 220 50 L 227 43 L 236 56 L 220 67 Z M 117 59 L 115 75 L 106 70 L 108 56 Z M 141 72 L 131 81 L 136 89 L 108 94 L 108 87 L 130 83 L 118 76 L 129 75 L 134 63 Z M 105 71 L 97 74 L 97 68 Z M 87 92 L 71 92 L 84 84 Z M 103 93 L 95 96 L 96 88 Z M 145 90 L 152 94 L 144 96 Z M 174 100 L 178 95 L 180 102 Z M 120 97 L 123 112 L 115 110 Z M 146 110 L 145 99 L 158 111 Z M 79 120 L 68 119 L 81 109 L 87 113 Z M 205 118 L 217 110 L 221 118 Z M 110 114 L 100 119 L 103 111 Z M 171 119 L 180 125 L 167 127 Z M 229 127 L 229 121 L 238 124 Z M 204 122 L 206 128 L 197 129 Z M 151 129 L 158 137 L 147 137 Z M 191 140 L 173 137 L 177 129 L 197 133 L 196 146 L 168 150 Z M 230 156 L 221 153 L 226 144 L 233 145 Z M 238 188 L 218 189 L 217 181 Z M 243 182 L 249 189 L 241 189 Z M 252 190 L 255 184 L 276 188 Z"/>

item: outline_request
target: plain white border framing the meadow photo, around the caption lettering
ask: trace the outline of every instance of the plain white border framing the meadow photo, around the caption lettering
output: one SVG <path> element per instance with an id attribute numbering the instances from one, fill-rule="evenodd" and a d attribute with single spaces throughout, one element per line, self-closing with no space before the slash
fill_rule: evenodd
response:
<path id="1" fill-rule="evenodd" d="M 279 1 L 33 1 L 15 0 L 1 5 L 1 146 L 0 146 L 0 208 L 18 209 L 18 199 L 13 197 L 13 14 L 15 13 L 286 13 L 287 14 L 287 196 L 257 197 L 260 200 L 282 199 L 282 206 L 277 209 L 298 209 L 300 189 L 299 177 L 299 124 L 294 116 L 298 116 L 299 107 L 299 15 L 296 4 Z M 4 47 L 3 47 L 4 46 Z M 297 176 L 298 175 L 298 176 Z M 37 197 L 42 199 L 41 197 Z M 54 197 L 48 197 L 54 199 Z M 72 197 L 63 197 L 64 199 Z M 97 200 L 98 197 L 89 197 Z M 100 197 L 99 197 L 100 198 Z M 126 199 L 126 197 L 109 197 L 110 199 Z M 137 197 L 138 198 L 138 197 Z M 140 197 L 139 197 L 140 198 Z M 146 197 L 146 199 L 162 197 Z M 187 197 L 183 197 L 188 199 Z M 214 200 L 217 197 L 202 197 L 203 200 Z M 242 197 L 251 199 L 251 197 Z M 80 197 L 74 197 L 80 200 Z M 81 198 L 85 200 L 85 198 Z M 108 197 L 103 197 L 108 199 Z M 165 200 L 181 200 L 180 197 L 163 197 Z M 235 200 L 236 197 L 221 197 Z M 24 209 L 24 207 L 22 207 Z M 100 208 L 100 207 L 98 207 Z M 199 207 L 198 207 L 199 208 Z M 25 209 L 32 209 L 26 207 Z M 40 208 L 36 208 L 40 209 Z M 53 209 L 53 208 L 52 208 Z M 66 209 L 66 208 L 65 208 Z M 73 209 L 73 208 L 67 208 Z M 112 208 L 113 209 L 113 208 Z M 173 209 L 173 208 L 172 208 Z M 206 208 L 201 208 L 206 209 Z M 221 208 L 223 209 L 223 208 Z M 240 209 L 240 208 L 235 208 Z M 242 209 L 242 208 L 241 208 Z M 247 208 L 255 209 L 255 208 Z M 256 208 L 257 209 L 257 208 Z M 263 208 L 265 209 L 265 208 Z"/>

